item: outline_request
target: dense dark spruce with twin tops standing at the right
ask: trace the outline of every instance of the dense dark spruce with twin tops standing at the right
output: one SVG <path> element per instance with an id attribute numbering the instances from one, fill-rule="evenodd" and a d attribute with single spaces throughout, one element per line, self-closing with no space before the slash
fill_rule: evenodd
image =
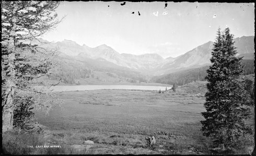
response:
<path id="1" fill-rule="evenodd" d="M 225 147 L 234 145 L 236 139 L 252 133 L 252 127 L 245 123 L 250 118 L 251 100 L 245 90 L 245 82 L 238 78 L 243 72 L 242 58 L 236 57 L 233 34 L 229 28 L 224 32 L 217 31 L 212 51 L 212 66 L 207 70 L 205 79 L 208 81 L 206 119 L 201 121 L 203 135 L 212 137 L 217 144 Z"/>

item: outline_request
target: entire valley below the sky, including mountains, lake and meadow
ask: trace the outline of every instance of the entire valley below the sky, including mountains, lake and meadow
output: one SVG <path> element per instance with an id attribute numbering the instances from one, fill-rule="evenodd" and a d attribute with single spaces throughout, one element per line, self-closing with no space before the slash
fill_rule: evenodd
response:
<path id="1" fill-rule="evenodd" d="M 57 69 L 50 77 L 41 77 L 48 83 L 60 81 L 55 86 L 59 88 L 53 92 L 64 103 L 53 107 L 49 114 L 33 110 L 35 121 L 44 127 L 43 134 L 6 133 L 5 151 L 14 151 L 12 154 L 217 154 L 211 150 L 212 140 L 200 131 L 211 42 L 167 59 L 155 54 L 119 54 L 106 45 L 93 51 L 94 48 L 85 45 L 64 42 L 53 43 L 59 46 L 59 55 L 54 58 Z M 47 45 L 52 48 L 51 44 Z M 245 70 L 239 79 L 247 81 L 246 90 L 254 97 L 254 54 L 240 52 L 238 56 L 245 57 L 242 60 Z M 171 89 L 174 83 L 176 92 Z M 254 113 L 251 117 L 246 123 L 254 127 Z M 146 138 L 152 136 L 157 144 L 149 148 Z M 17 144 L 10 143 L 14 139 Z M 246 135 L 239 141 L 249 141 L 250 145 L 252 139 Z M 58 148 L 42 148 L 53 145 Z M 38 148 L 28 148 L 31 146 Z M 249 154 L 252 150 L 252 146 L 243 146 L 234 154 Z"/>

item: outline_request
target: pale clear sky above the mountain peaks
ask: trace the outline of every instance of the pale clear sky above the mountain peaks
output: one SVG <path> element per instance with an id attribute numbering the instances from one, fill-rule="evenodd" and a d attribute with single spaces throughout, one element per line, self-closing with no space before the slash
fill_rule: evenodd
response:
<path id="1" fill-rule="evenodd" d="M 56 12 L 66 17 L 42 38 L 167 58 L 215 41 L 218 28 L 229 27 L 235 38 L 254 35 L 254 3 L 121 3 L 61 2 Z"/>

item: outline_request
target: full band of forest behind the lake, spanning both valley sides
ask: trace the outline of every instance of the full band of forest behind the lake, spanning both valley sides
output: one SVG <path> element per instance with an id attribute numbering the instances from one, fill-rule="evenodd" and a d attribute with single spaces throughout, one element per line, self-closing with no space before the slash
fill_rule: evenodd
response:
<path id="1" fill-rule="evenodd" d="M 68 66 L 67 66 L 68 64 Z M 242 60 L 244 65 L 244 74 L 254 73 L 254 62 L 253 60 Z M 86 64 L 87 65 L 87 64 Z M 104 79 L 95 75 L 95 72 L 103 72 L 111 77 L 120 79 L 123 82 L 130 83 L 141 83 L 141 82 L 153 82 L 162 84 L 174 84 L 184 85 L 193 81 L 205 81 L 206 70 L 209 66 L 183 70 L 174 72 L 171 74 L 154 76 L 150 79 L 149 76 L 140 74 L 139 72 L 132 71 L 129 69 L 112 68 L 112 67 L 92 67 L 86 66 L 81 62 L 62 62 L 60 70 L 55 71 L 50 77 L 51 80 L 60 80 L 65 84 L 76 84 L 80 85 L 82 79 Z"/>

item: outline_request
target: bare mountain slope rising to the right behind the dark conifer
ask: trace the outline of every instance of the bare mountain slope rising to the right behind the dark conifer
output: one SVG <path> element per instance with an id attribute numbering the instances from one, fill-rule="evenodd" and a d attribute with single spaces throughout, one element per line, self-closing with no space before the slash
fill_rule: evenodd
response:
<path id="1" fill-rule="evenodd" d="M 238 56 L 245 56 L 244 59 L 254 59 L 254 36 L 238 37 L 234 39 L 234 42 L 234 46 L 237 47 Z M 179 56 L 175 60 L 163 62 L 153 73 L 154 75 L 161 75 L 206 66 L 211 63 L 212 48 L 213 42 L 207 42 Z"/>

